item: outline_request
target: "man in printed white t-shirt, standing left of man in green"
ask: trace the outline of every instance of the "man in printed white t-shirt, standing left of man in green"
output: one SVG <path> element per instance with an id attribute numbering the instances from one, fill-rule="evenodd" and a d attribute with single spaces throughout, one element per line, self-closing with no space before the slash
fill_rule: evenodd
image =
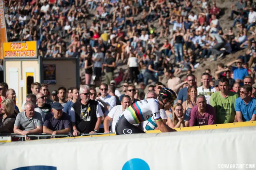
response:
<path id="1" fill-rule="evenodd" d="M 210 86 L 211 76 L 209 73 L 203 73 L 201 77 L 202 86 L 197 87 L 197 95 L 204 95 L 207 104 L 210 104 L 211 95 L 216 92 L 214 87 Z"/>

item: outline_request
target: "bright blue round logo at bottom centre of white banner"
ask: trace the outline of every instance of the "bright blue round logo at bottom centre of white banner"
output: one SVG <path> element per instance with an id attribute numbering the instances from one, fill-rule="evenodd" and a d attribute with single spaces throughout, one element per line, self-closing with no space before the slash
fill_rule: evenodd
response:
<path id="1" fill-rule="evenodd" d="M 150 167 L 145 160 L 133 158 L 125 163 L 122 170 L 150 170 Z"/>

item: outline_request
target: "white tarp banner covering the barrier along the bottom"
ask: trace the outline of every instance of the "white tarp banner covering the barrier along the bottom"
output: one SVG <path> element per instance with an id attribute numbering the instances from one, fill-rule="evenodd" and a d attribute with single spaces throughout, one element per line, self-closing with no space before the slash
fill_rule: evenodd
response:
<path id="1" fill-rule="evenodd" d="M 140 170 L 243 169 L 256 164 L 255 143 L 256 127 L 0 143 L 0 170 L 128 170 L 131 159 Z"/>

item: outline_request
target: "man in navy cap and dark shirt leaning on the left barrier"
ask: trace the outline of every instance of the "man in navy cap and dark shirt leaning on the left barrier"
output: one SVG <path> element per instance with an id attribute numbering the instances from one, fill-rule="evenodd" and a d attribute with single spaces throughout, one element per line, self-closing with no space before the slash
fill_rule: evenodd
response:
<path id="1" fill-rule="evenodd" d="M 68 134 L 71 130 L 69 115 L 62 112 L 63 106 L 59 103 L 52 104 L 52 113 L 46 115 L 43 124 L 43 133 L 50 135 Z"/>

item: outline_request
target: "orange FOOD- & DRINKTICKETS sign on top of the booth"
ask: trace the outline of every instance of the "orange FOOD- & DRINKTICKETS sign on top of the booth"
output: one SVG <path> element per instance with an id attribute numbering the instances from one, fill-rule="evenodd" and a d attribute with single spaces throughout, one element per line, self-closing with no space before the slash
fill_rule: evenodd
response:
<path id="1" fill-rule="evenodd" d="M 37 41 L 3 43 L 4 57 L 37 57 Z"/>

